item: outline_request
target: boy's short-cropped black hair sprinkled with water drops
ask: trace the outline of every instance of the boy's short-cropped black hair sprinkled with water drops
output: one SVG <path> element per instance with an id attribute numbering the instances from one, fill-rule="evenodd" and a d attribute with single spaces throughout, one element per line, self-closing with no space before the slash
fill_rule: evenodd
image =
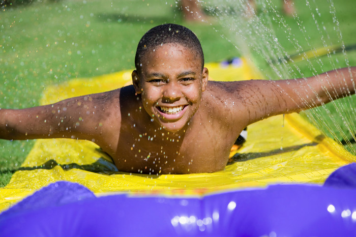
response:
<path id="1" fill-rule="evenodd" d="M 162 24 L 153 27 L 144 34 L 137 45 L 135 67 L 141 69 L 141 59 L 147 50 L 167 43 L 181 44 L 195 51 L 201 59 L 201 70 L 204 67 L 204 54 L 198 37 L 187 27 L 177 24 Z"/>

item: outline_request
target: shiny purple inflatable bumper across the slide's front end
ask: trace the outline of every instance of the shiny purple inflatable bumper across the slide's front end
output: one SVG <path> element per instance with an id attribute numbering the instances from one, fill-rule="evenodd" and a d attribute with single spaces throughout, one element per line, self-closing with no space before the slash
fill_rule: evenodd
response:
<path id="1" fill-rule="evenodd" d="M 95 197 L 81 185 L 57 182 L 2 213 L 0 235 L 354 236 L 355 170 L 342 167 L 324 186 L 273 185 L 201 198 Z"/>

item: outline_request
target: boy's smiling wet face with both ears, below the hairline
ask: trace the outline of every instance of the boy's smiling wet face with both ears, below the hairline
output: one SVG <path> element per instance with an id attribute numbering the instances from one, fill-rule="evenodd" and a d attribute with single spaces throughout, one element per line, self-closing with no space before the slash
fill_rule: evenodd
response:
<path id="1" fill-rule="evenodd" d="M 194 50 L 174 43 L 146 52 L 141 62 L 132 78 L 145 111 L 164 129 L 181 130 L 199 107 L 207 69 Z"/>

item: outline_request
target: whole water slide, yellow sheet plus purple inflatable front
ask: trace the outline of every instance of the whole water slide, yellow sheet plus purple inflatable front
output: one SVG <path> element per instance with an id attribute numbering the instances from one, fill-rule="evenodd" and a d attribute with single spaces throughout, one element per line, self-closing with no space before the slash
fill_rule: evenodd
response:
<path id="1" fill-rule="evenodd" d="M 259 77 L 243 58 L 207 67 L 216 80 Z M 130 83 L 131 71 L 76 79 L 47 88 L 42 103 Z M 0 189 L 0 235 L 356 233 L 356 158 L 299 114 L 250 125 L 230 157 L 215 173 L 134 174 L 90 141 L 39 139 Z"/>

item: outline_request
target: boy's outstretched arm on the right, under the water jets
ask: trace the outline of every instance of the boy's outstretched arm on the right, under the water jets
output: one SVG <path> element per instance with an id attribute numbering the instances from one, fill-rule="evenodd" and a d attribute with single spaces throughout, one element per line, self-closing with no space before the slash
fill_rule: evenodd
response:
<path id="1" fill-rule="evenodd" d="M 249 80 L 236 83 L 246 125 L 266 117 L 299 112 L 355 93 L 356 67 L 289 80 Z M 230 90 L 231 91 L 231 88 Z M 242 113 L 240 111 L 240 114 Z"/>

